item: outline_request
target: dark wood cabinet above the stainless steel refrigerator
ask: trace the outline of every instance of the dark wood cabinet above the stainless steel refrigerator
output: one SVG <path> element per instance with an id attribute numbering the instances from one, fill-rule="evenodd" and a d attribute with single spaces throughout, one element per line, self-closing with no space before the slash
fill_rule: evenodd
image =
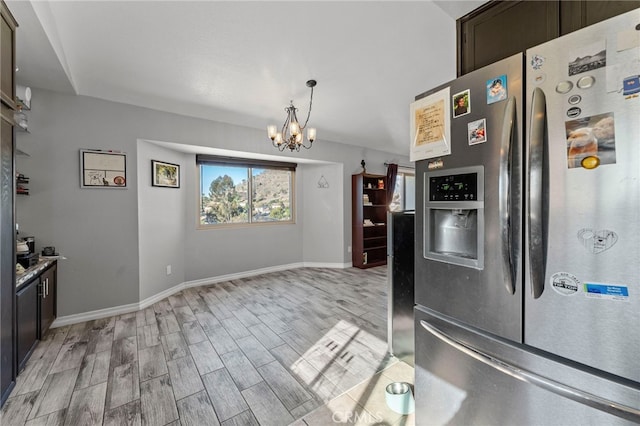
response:
<path id="1" fill-rule="evenodd" d="M 457 21 L 458 76 L 638 7 L 640 1 L 490 1 Z"/>

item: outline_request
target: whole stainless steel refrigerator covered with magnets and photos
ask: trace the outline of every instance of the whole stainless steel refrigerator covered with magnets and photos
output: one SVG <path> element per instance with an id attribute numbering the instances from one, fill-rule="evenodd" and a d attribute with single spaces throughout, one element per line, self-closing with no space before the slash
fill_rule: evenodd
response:
<path id="1" fill-rule="evenodd" d="M 416 97 L 416 424 L 640 423 L 639 75 L 640 9 Z"/>

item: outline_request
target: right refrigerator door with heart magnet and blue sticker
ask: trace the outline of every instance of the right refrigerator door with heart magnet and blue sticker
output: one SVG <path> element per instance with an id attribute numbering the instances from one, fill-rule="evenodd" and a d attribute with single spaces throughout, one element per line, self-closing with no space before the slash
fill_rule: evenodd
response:
<path id="1" fill-rule="evenodd" d="M 640 383 L 640 9 L 527 51 L 525 343 Z M 548 238 L 547 238 L 548 236 Z"/>

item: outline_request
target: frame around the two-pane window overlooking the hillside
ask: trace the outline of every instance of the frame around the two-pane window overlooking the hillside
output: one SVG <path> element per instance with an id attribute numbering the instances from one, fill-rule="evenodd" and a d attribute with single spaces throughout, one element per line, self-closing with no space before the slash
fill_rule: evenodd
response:
<path id="1" fill-rule="evenodd" d="M 247 169 L 247 222 L 232 222 L 232 223 L 200 223 L 200 214 L 202 211 L 202 174 L 201 166 L 233 166 L 233 167 L 245 167 Z M 230 157 L 218 157 L 212 155 L 196 154 L 196 184 L 197 184 L 197 197 L 196 197 L 196 229 L 198 230 L 210 230 L 210 229 L 230 229 L 230 228 L 246 228 L 256 226 L 272 226 L 272 225 L 295 225 L 296 224 L 296 163 L 275 162 L 265 160 L 254 160 L 246 158 L 230 158 Z M 253 169 L 272 169 L 287 171 L 290 173 L 289 179 L 289 210 L 291 212 L 291 218 L 289 220 L 275 220 L 275 221 L 260 221 L 253 222 Z"/>

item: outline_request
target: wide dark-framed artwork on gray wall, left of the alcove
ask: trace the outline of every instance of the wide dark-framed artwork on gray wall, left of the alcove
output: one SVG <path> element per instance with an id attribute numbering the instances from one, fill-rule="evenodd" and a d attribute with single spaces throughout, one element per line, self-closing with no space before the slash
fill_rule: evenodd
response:
<path id="1" fill-rule="evenodd" d="M 99 149 L 80 150 L 81 188 L 126 188 L 127 154 Z"/>

